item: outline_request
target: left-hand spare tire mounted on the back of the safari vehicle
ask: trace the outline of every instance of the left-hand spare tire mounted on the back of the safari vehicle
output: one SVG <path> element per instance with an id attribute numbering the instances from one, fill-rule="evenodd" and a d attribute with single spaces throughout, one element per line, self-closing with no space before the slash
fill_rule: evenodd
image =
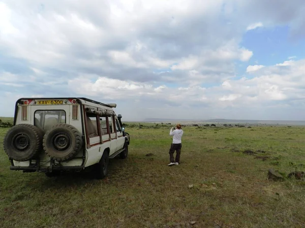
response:
<path id="1" fill-rule="evenodd" d="M 13 126 L 6 134 L 3 147 L 9 158 L 24 162 L 42 150 L 43 131 L 31 124 Z"/>

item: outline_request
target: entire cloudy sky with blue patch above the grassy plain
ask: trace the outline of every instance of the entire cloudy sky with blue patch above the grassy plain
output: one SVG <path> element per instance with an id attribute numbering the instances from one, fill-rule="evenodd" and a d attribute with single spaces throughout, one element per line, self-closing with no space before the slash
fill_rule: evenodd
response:
<path id="1" fill-rule="evenodd" d="M 0 116 L 81 96 L 145 118 L 305 120 L 303 0 L 0 0 Z"/>

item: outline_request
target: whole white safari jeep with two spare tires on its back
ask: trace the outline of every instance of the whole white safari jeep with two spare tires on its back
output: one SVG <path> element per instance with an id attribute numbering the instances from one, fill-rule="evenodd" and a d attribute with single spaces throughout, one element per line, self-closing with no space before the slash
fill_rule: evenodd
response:
<path id="1" fill-rule="evenodd" d="M 10 169 L 53 176 L 94 165 L 104 178 L 109 159 L 127 158 L 130 143 L 115 107 L 87 98 L 18 99 L 4 138 Z"/>

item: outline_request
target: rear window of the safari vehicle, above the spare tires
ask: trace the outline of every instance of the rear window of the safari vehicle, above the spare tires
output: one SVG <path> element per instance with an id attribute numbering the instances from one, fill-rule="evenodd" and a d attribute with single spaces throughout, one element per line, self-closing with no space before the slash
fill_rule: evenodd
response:
<path id="1" fill-rule="evenodd" d="M 55 124 L 66 123 L 66 112 L 64 110 L 37 110 L 34 116 L 34 125 L 45 131 Z"/>

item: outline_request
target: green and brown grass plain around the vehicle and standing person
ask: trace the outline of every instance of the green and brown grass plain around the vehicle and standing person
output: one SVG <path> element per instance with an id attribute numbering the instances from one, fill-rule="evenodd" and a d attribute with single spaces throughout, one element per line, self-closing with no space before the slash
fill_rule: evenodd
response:
<path id="1" fill-rule="evenodd" d="M 126 127 L 129 157 L 111 160 L 103 180 L 89 172 L 48 178 L 10 171 L 1 148 L 2 227 L 305 225 L 305 182 L 287 178 L 305 171 L 304 127 L 185 127 L 181 164 L 174 167 L 167 166 L 169 128 Z M 7 130 L 0 129 L 1 144 Z M 264 153 L 250 156 L 245 149 Z M 268 180 L 269 168 L 284 181 Z"/>

